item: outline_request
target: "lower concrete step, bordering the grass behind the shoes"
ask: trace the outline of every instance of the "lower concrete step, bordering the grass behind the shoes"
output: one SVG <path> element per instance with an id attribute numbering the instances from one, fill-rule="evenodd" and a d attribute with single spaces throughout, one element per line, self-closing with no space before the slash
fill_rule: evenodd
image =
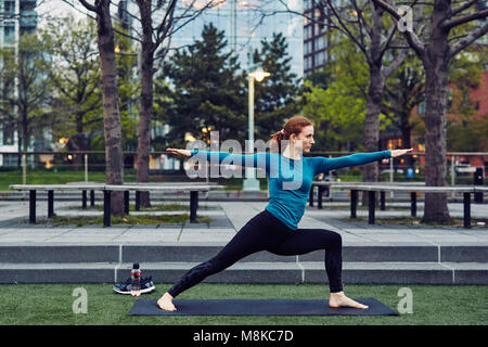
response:
<path id="1" fill-rule="evenodd" d="M 142 262 L 143 277 L 175 283 L 197 262 Z M 0 264 L 0 283 L 118 283 L 130 275 L 130 262 Z M 328 283 L 322 261 L 236 262 L 206 283 Z M 344 262 L 347 284 L 488 284 L 488 264 Z"/>

